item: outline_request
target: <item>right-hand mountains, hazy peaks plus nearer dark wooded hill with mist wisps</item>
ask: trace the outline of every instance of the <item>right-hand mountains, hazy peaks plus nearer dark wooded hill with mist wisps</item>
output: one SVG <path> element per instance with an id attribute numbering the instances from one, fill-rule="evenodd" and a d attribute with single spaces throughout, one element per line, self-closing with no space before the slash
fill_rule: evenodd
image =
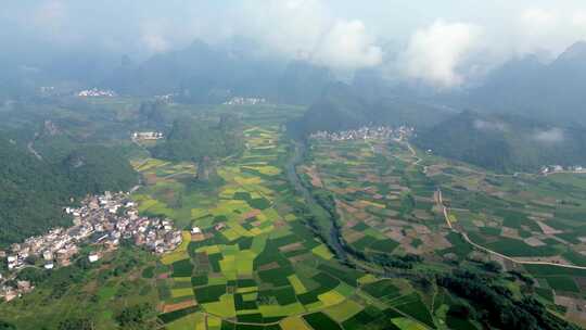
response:
<path id="1" fill-rule="evenodd" d="M 385 85 L 377 73 L 361 72 L 352 86 L 329 85 L 292 127 L 307 135 L 412 125 L 420 148 L 497 172 L 586 165 L 586 42 L 549 64 L 536 56 L 510 61 L 481 87 L 448 100 L 417 97 Z"/>

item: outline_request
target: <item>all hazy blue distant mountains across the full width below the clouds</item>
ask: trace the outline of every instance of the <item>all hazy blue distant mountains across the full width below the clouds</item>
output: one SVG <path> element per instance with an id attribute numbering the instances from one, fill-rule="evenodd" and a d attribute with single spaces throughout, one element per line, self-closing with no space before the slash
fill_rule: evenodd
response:
<path id="1" fill-rule="evenodd" d="M 333 72 L 308 61 L 263 54 L 257 45 L 231 40 L 208 45 L 196 40 L 180 50 L 133 62 L 112 54 L 56 54 L 30 65 L 17 59 L 0 63 L 0 100 L 33 93 L 40 86 L 102 87 L 122 94 L 176 94 L 186 103 L 224 103 L 232 97 L 310 105 L 339 81 Z M 23 60 L 27 61 L 27 60 Z M 392 60 L 390 60 L 392 61 Z M 493 69 L 476 87 L 436 94 L 433 89 L 386 77 L 382 67 L 364 68 L 346 81 L 368 102 L 399 98 L 410 103 L 448 104 L 482 113 L 509 113 L 586 125 L 586 42 L 576 42 L 550 63 L 535 55 L 511 60 Z M 327 91 L 326 91 L 327 92 Z M 422 102 L 421 100 L 432 100 Z"/>

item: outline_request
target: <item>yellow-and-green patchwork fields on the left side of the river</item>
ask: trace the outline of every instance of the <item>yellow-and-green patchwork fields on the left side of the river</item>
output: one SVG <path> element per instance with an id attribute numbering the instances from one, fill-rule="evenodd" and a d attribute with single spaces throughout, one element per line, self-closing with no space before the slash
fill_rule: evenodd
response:
<path id="1" fill-rule="evenodd" d="M 435 328 L 409 281 L 343 266 L 316 239 L 281 169 L 288 143 L 279 127 L 253 126 L 244 137 L 244 154 L 218 166 L 213 189 L 193 185 L 194 165 L 136 163 L 148 181 L 135 195 L 141 211 L 184 227 L 183 244 L 153 270 L 166 327 Z"/>

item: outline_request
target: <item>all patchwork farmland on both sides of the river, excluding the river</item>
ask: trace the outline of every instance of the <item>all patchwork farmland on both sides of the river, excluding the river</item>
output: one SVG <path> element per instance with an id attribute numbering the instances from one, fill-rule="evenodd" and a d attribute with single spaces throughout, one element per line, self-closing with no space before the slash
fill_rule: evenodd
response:
<path id="1" fill-rule="evenodd" d="M 135 193 L 141 212 L 183 228 L 183 244 L 149 269 L 167 329 L 481 329 L 454 312 L 466 301 L 433 277 L 491 262 L 524 274 L 502 279 L 482 270 L 491 281 L 515 294 L 533 290 L 550 312 L 582 320 L 573 306 L 584 294 L 584 272 L 542 274 L 543 267 L 476 251 L 448 228 L 442 207 L 483 246 L 523 261 L 579 265 L 579 230 L 559 229 L 557 215 L 581 214 L 582 188 L 564 203 L 547 190 L 573 180 L 499 177 L 416 152 L 405 141 L 311 140 L 296 169 L 324 210 L 332 201 L 348 257 L 340 262 L 289 181 L 294 144 L 276 117 L 245 119 L 244 152 L 218 162 L 205 185 L 195 179 L 194 163 L 133 163 L 145 183 Z M 519 180 L 532 189 L 515 190 Z M 505 193 L 510 204 L 498 199 Z M 469 204 L 470 194 L 476 204 Z M 535 285 L 526 285 L 526 276 Z"/>

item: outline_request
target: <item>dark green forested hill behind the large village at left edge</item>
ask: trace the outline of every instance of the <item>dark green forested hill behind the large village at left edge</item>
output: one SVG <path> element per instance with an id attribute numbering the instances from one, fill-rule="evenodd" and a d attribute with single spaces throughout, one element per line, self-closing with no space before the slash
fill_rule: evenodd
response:
<path id="1" fill-rule="evenodd" d="M 50 164 L 0 136 L 0 246 L 67 225 L 62 210 L 72 196 L 126 190 L 137 179 L 128 162 L 111 149 L 88 147 Z"/>

